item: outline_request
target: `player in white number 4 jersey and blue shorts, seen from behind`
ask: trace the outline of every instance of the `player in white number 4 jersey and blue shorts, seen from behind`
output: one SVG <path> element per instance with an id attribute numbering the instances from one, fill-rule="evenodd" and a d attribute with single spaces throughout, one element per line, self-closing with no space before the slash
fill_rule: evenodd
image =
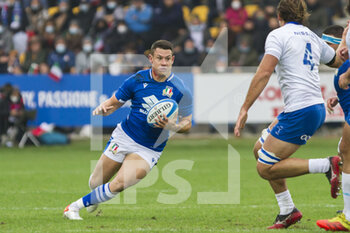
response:
<path id="1" fill-rule="evenodd" d="M 259 149 L 257 162 L 259 175 L 270 181 L 280 207 L 280 213 L 269 229 L 287 228 L 302 218 L 285 178 L 326 173 L 331 168 L 328 158 L 305 160 L 290 156 L 311 138 L 325 119 L 318 74 L 320 63 L 331 67 L 343 63 L 330 46 L 303 26 L 308 17 L 303 0 L 281 0 L 277 13 L 281 27 L 266 39 L 265 55 L 250 84 L 234 129 L 235 135 L 240 136 L 249 108 L 276 69 L 285 107 Z"/>

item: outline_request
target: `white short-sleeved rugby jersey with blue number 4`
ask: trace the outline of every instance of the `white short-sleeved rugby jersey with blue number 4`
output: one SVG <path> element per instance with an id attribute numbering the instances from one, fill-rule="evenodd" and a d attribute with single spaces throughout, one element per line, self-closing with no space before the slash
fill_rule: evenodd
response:
<path id="1" fill-rule="evenodd" d="M 278 59 L 275 70 L 284 112 L 324 103 L 318 67 L 332 61 L 335 51 L 315 33 L 303 25 L 287 23 L 270 32 L 265 54 Z"/>

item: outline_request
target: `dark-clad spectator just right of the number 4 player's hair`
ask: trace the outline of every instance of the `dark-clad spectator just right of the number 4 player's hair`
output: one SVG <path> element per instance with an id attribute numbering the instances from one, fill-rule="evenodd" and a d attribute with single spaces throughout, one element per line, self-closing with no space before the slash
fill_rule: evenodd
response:
<path id="1" fill-rule="evenodd" d="M 311 12 L 309 17 L 309 28 L 321 36 L 323 29 L 328 26 L 326 8 L 322 7 L 319 0 L 306 0 L 307 8 Z"/>

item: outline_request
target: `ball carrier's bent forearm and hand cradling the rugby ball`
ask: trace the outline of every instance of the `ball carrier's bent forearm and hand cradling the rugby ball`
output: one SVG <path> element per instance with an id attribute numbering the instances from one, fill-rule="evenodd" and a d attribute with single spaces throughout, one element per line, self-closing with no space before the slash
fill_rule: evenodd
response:
<path id="1" fill-rule="evenodd" d="M 165 115 L 163 115 L 163 118 L 158 116 L 155 127 L 171 130 L 176 133 L 187 133 L 190 131 L 192 127 L 192 114 L 185 117 L 179 117 L 179 123 L 176 123 L 176 119 L 177 117 L 174 117 L 173 120 L 169 120 Z"/>

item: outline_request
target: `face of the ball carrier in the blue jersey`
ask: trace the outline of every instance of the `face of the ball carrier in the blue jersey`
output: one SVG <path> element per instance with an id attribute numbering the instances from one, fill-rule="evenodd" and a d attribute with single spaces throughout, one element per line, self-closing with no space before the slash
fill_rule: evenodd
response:
<path id="1" fill-rule="evenodd" d="M 153 54 L 149 56 L 153 72 L 160 77 L 168 77 L 171 73 L 174 58 L 170 49 L 156 48 Z"/>

